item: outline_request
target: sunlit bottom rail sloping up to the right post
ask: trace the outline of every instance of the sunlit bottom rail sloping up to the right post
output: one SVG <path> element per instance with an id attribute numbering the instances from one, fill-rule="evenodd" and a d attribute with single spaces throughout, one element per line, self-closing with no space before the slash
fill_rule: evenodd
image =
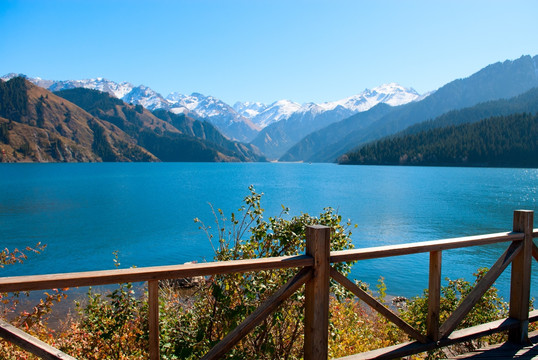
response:
<path id="1" fill-rule="evenodd" d="M 433 350 L 435 348 L 452 345 L 462 341 L 473 340 L 482 336 L 498 333 L 500 331 L 509 330 L 513 327 L 518 326 L 518 324 L 519 322 L 514 319 L 502 319 L 492 321 L 487 324 L 454 331 L 448 338 L 440 339 L 437 343 L 433 341 L 426 344 L 422 344 L 418 341 L 407 342 L 382 349 L 341 357 L 336 360 L 396 359 L 399 357 L 418 354 L 424 351 Z"/>

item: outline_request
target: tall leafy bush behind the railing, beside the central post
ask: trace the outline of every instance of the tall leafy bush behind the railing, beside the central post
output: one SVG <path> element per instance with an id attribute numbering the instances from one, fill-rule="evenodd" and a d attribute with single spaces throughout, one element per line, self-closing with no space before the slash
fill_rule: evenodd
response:
<path id="1" fill-rule="evenodd" d="M 239 216 L 232 213 L 230 219 L 226 219 L 220 209 L 214 211 L 216 234 L 211 233 L 213 229 L 209 226 L 195 220 L 213 244 L 215 261 L 304 254 L 306 227 L 315 224 L 332 228 L 332 250 L 352 248 L 350 224 L 342 224 L 341 216 L 333 209 L 324 209 L 319 217 L 301 214 L 286 219 L 289 209 L 283 207 L 280 216 L 266 220 L 260 204 L 262 194 L 256 193 L 253 187 L 249 190 L 245 205 L 238 210 Z M 338 268 L 348 273 L 350 264 L 342 263 Z M 169 354 L 165 358 L 200 358 L 296 273 L 296 269 L 281 269 L 209 278 L 193 305 L 178 303 L 178 308 L 172 309 L 180 314 L 177 320 L 163 322 L 164 332 L 179 335 L 172 338 L 163 334 L 167 339 L 163 352 Z M 333 286 L 332 292 L 340 294 L 342 290 Z M 227 358 L 301 358 L 303 303 L 302 290 L 293 294 Z"/>

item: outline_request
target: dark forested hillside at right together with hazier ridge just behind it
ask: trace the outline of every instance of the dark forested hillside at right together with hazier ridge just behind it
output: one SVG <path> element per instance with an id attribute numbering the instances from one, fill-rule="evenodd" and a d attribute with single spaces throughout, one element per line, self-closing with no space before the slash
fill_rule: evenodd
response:
<path id="1" fill-rule="evenodd" d="M 538 87 L 452 110 L 339 157 L 340 164 L 538 166 Z"/>

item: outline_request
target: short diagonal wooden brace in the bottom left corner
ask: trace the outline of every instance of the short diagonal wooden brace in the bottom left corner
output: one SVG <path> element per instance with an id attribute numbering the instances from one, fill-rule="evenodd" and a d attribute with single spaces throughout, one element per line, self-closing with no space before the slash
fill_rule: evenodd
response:
<path id="1" fill-rule="evenodd" d="M 3 320 L 0 320 L 0 337 L 45 360 L 76 360 Z"/>

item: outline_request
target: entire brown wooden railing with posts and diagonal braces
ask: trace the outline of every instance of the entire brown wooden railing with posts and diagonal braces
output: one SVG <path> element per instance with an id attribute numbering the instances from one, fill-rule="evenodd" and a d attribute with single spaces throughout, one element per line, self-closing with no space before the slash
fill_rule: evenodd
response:
<path id="1" fill-rule="evenodd" d="M 504 330 L 509 331 L 510 341 L 524 343 L 528 336 L 529 322 L 538 320 L 538 312 L 529 313 L 531 261 L 532 257 L 538 260 L 538 248 L 533 243 L 533 238 L 538 237 L 538 229 L 533 230 L 532 211 L 518 210 L 514 212 L 512 232 L 346 251 L 330 252 L 330 231 L 331 229 L 325 226 L 309 226 L 306 234 L 306 253 L 300 256 L 68 274 L 5 277 L 0 278 L 0 292 L 147 281 L 149 354 L 152 360 L 159 359 L 158 281 L 164 279 L 271 269 L 299 269 L 292 279 L 263 302 L 245 321 L 211 349 L 203 359 L 221 358 L 303 284 L 305 285 L 304 358 L 307 360 L 327 359 L 330 278 L 342 284 L 359 299 L 392 321 L 411 338 L 415 339 L 413 342 L 351 355 L 341 359 L 392 359 Z M 502 242 L 508 244 L 506 251 L 491 266 L 490 270 L 477 283 L 475 288 L 461 302 L 452 315 L 443 324 L 440 324 L 442 252 L 450 249 Z M 354 282 L 335 270 L 335 268 L 331 267 L 331 263 L 426 252 L 430 254 L 430 297 L 428 299 L 426 334 L 422 334 L 413 328 L 400 318 L 397 313 L 390 310 L 369 293 L 363 291 Z M 480 300 L 510 263 L 512 264 L 512 276 L 509 317 L 472 328 L 454 331 L 465 315 Z M 21 346 L 43 359 L 74 359 L 5 322 L 0 323 L 0 337 Z"/>

